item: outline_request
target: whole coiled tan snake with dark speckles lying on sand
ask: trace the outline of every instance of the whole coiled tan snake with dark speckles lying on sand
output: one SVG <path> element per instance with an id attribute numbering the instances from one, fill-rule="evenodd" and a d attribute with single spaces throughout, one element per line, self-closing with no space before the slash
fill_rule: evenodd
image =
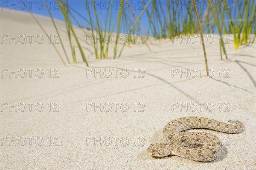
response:
<path id="1" fill-rule="evenodd" d="M 224 133 L 240 133 L 244 125 L 239 121 L 219 122 L 205 117 L 183 117 L 169 122 L 163 129 L 165 143 L 151 144 L 147 152 L 151 156 L 176 155 L 194 161 L 213 161 L 226 154 L 221 140 L 204 132 L 187 133 L 184 130 L 204 128 Z"/>

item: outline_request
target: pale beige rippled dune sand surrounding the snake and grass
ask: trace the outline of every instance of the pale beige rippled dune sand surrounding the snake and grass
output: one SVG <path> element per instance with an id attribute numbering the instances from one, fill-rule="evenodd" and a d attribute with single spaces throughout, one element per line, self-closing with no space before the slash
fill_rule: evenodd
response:
<path id="1" fill-rule="evenodd" d="M 35 16 L 50 35 L 56 34 L 50 18 Z M 68 48 L 65 25 L 56 22 Z M 75 29 L 83 39 L 81 29 Z M 85 49 L 93 51 L 92 46 L 83 42 L 88 68 L 78 48 L 79 63 L 65 67 L 29 13 L 1 9 L 0 30 L 0 169 L 256 169 L 255 43 L 234 50 L 233 36 L 227 35 L 228 59 L 221 61 L 218 35 L 205 34 L 214 37 L 206 43 L 214 73 L 207 77 L 197 35 L 195 43 L 186 37 L 188 42 L 152 40 L 151 51 L 144 44 L 127 46 L 115 60 L 112 48 L 108 59 L 94 59 Z M 17 43 L 3 35 L 17 35 Z M 29 35 L 44 41 L 32 37 L 29 43 Z M 17 74 L 9 74 L 15 69 Z M 163 127 L 183 116 L 239 120 L 245 130 L 190 130 L 221 138 L 227 155 L 218 161 L 149 156 L 146 148 L 163 141 Z"/>

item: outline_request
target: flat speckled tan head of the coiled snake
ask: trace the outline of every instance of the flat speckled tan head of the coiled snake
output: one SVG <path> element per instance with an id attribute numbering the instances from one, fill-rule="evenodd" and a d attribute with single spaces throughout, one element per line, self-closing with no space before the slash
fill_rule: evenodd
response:
<path id="1" fill-rule="evenodd" d="M 147 152 L 151 156 L 157 156 L 157 157 L 168 156 L 171 154 L 169 150 L 169 144 L 166 144 L 166 143 L 150 144 L 149 147 L 147 148 Z"/>

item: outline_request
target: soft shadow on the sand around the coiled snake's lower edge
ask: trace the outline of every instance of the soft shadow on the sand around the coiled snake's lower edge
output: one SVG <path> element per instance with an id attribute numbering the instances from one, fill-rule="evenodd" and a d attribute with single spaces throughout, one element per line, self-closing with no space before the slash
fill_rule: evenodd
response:
<path id="1" fill-rule="evenodd" d="M 183 132 L 187 132 L 189 130 L 185 130 Z M 160 142 L 164 142 L 163 140 L 163 130 L 157 130 L 153 136 L 151 137 L 151 143 L 160 143 Z M 148 144 L 149 146 L 149 144 Z M 140 160 L 157 160 L 157 159 L 171 159 L 171 158 L 174 158 L 174 157 L 179 157 L 179 156 L 175 156 L 175 155 L 169 155 L 169 156 L 165 156 L 165 157 L 157 157 L 157 156 L 151 156 L 147 153 L 146 151 L 146 148 L 148 147 L 147 145 L 145 145 L 145 151 L 143 153 L 140 153 L 137 155 L 137 158 L 140 159 Z M 207 161 L 207 162 L 200 162 L 200 163 L 203 163 L 203 164 L 212 164 L 212 163 L 215 163 L 217 161 L 221 161 L 221 160 L 224 160 L 226 157 L 227 157 L 227 148 L 225 146 L 223 146 L 223 150 L 224 150 L 224 154 L 219 157 L 218 159 L 214 160 L 214 161 Z M 185 158 L 181 158 L 179 157 L 180 159 L 185 159 Z M 199 162 L 199 161 L 193 161 L 193 160 L 189 160 L 189 159 L 186 159 L 188 162 L 189 161 L 192 161 L 192 162 Z M 177 161 L 177 159 L 175 159 L 175 161 Z"/>

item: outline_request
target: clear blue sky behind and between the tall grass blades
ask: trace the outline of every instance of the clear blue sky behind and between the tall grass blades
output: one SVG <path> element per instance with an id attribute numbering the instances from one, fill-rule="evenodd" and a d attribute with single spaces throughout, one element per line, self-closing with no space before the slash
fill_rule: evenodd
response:
<path id="1" fill-rule="evenodd" d="M 43 0 L 24 0 L 23 2 L 26 3 L 26 6 L 32 11 L 32 13 L 35 14 L 41 14 L 44 16 L 48 16 L 48 11 L 47 8 L 44 4 Z M 52 13 L 52 16 L 56 19 L 59 20 L 64 20 L 64 17 L 61 13 L 61 11 L 58 8 L 57 3 L 55 2 L 55 0 L 46 0 L 47 5 L 49 6 L 49 9 Z M 64 0 L 64 2 L 66 2 L 66 0 Z M 108 0 L 95 0 L 96 3 L 96 11 L 99 17 L 99 22 L 100 24 L 102 24 L 102 26 L 104 26 L 105 23 L 105 16 L 107 13 L 107 10 L 109 9 L 109 3 L 110 1 Z M 131 11 L 130 7 L 133 8 L 134 12 L 137 14 L 137 16 L 140 14 L 140 12 L 143 10 L 143 1 L 142 0 L 129 0 L 130 2 L 130 6 L 127 3 L 122 4 L 124 9 L 126 11 Z M 148 0 L 145 0 L 145 3 L 147 3 Z M 180 3 L 182 2 L 182 3 Z M 198 5 L 201 6 L 202 5 L 203 0 L 199 0 L 198 1 Z M 228 1 L 229 3 L 231 2 L 230 0 Z M 161 0 L 161 3 L 163 4 L 163 7 L 166 6 L 166 0 Z M 88 17 L 88 13 L 86 8 L 90 8 L 90 11 L 93 13 L 93 7 L 92 7 L 92 3 L 89 0 L 89 6 L 86 6 L 86 1 L 83 0 L 83 4 L 81 3 L 81 0 L 69 0 L 68 4 L 71 8 L 74 8 L 77 12 L 79 12 L 80 14 L 82 14 L 85 18 L 87 18 L 87 20 L 89 20 Z M 204 6 L 201 6 L 200 8 L 202 10 L 205 10 L 207 8 L 207 6 L 210 6 L 211 4 L 205 4 Z M 24 4 L 20 1 L 20 0 L 1 0 L 0 1 L 0 6 L 1 8 L 9 8 L 9 9 L 13 9 L 13 10 L 20 10 L 20 11 L 26 11 L 27 9 L 25 8 Z M 112 13 L 112 17 L 111 17 L 111 21 L 113 23 L 116 14 L 118 13 L 119 10 L 119 6 L 120 6 L 120 1 L 119 0 L 113 0 L 113 13 Z M 148 6 L 148 10 L 151 10 L 151 5 Z M 186 8 L 192 8 L 192 2 L 190 1 L 178 1 L 175 0 L 175 9 L 180 8 L 183 11 L 186 11 Z M 167 14 L 167 9 L 164 8 L 164 11 L 160 11 L 163 12 L 164 14 Z M 81 19 L 81 17 L 79 17 L 77 14 L 75 14 L 74 12 L 72 12 L 74 17 L 76 17 L 77 20 L 79 20 L 79 24 L 81 26 L 85 26 L 90 28 L 90 26 L 85 23 L 85 21 L 83 19 Z M 94 14 L 94 13 L 93 13 Z M 131 14 L 131 12 L 130 12 Z M 92 15 L 94 16 L 94 15 Z M 92 18 L 92 20 L 95 22 L 95 17 Z M 74 20 L 72 20 L 72 23 L 74 25 L 78 25 Z M 146 28 L 148 28 L 148 18 L 147 15 L 143 14 L 142 18 L 141 18 L 141 23 L 143 24 L 143 26 Z M 143 30 L 143 29 L 141 29 Z M 217 29 L 215 29 L 217 30 Z M 116 32 L 116 28 L 114 29 L 114 32 Z M 121 28 L 121 32 L 124 33 L 124 29 Z M 217 33 L 217 32 L 216 32 Z M 143 32 L 142 34 L 145 35 L 145 33 Z"/>

